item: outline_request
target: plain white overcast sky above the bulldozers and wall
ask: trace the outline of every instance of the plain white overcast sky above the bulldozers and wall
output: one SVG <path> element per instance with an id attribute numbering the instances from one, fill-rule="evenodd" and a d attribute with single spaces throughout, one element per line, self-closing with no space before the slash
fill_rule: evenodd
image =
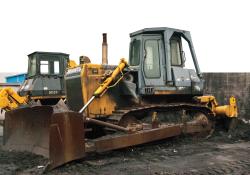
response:
<path id="1" fill-rule="evenodd" d="M 0 72 L 26 72 L 34 51 L 87 55 L 101 62 L 108 33 L 109 62 L 128 58 L 129 33 L 146 27 L 191 31 L 202 71 L 250 71 L 248 0 L 2 0 Z"/>

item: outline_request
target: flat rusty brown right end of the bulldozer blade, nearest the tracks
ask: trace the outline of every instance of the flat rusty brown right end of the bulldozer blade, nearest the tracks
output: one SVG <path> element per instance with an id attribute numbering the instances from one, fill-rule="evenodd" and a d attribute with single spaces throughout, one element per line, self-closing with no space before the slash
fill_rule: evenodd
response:
<path id="1" fill-rule="evenodd" d="M 47 170 L 85 156 L 84 120 L 76 112 L 55 113 L 51 117 Z"/>

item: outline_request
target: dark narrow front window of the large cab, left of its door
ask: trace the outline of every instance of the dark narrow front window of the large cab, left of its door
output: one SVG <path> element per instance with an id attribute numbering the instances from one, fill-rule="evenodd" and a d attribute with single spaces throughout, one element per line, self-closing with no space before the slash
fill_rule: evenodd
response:
<path id="1" fill-rule="evenodd" d="M 131 66 L 137 66 L 140 63 L 140 40 L 134 40 L 130 46 L 130 59 L 129 64 Z"/>

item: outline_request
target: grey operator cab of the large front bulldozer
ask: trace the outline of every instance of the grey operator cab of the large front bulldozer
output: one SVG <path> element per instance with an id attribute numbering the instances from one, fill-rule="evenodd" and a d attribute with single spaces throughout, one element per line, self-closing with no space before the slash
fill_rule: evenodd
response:
<path id="1" fill-rule="evenodd" d="M 190 32 L 146 28 L 130 37 L 129 64 L 137 73 L 140 95 L 202 94 L 203 80 Z"/>

